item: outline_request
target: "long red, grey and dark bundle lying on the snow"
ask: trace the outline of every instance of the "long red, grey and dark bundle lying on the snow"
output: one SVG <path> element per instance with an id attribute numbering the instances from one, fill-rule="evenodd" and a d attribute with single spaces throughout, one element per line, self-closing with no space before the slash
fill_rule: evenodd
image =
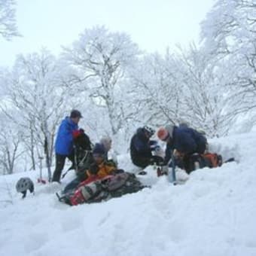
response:
<path id="1" fill-rule="evenodd" d="M 78 186 L 73 194 L 59 197 L 59 201 L 70 206 L 81 203 L 97 203 L 113 197 L 121 197 L 124 194 L 136 193 L 144 187 L 133 173 L 121 172 Z"/>

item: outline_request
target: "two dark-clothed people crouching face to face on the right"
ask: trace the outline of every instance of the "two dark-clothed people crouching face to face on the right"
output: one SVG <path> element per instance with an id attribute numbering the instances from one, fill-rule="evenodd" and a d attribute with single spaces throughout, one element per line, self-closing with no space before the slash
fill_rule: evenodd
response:
<path id="1" fill-rule="evenodd" d="M 189 172 L 191 156 L 206 152 L 207 140 L 203 133 L 182 123 L 179 126 L 162 126 L 157 130 L 158 139 L 166 142 L 166 151 L 164 157 L 161 157 L 157 154 L 159 150 L 157 142 L 151 140 L 154 133 L 154 130 L 144 126 L 136 131 L 131 140 L 130 154 L 132 161 L 142 169 L 152 164 L 171 166 L 171 164 L 174 164 L 171 161 L 175 161 L 175 165 Z"/>

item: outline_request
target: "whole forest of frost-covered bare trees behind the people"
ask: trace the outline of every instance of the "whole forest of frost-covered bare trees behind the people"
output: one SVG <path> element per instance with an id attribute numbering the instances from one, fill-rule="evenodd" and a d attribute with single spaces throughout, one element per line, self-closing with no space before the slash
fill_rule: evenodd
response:
<path id="1" fill-rule="evenodd" d="M 18 36 L 14 2 L 0 0 L 0 36 Z M 72 108 L 96 142 L 129 149 L 138 126 L 187 122 L 208 137 L 256 121 L 256 2 L 218 0 L 201 23 L 200 45 L 144 53 L 124 32 L 84 29 L 59 56 L 47 49 L 0 68 L 0 173 L 49 166 L 60 121 Z"/>

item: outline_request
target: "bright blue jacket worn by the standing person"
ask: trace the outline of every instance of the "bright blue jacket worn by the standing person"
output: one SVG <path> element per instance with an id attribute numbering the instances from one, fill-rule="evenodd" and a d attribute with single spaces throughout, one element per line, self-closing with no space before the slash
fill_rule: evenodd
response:
<path id="1" fill-rule="evenodd" d="M 66 117 L 60 123 L 59 130 L 55 142 L 56 154 L 69 156 L 73 150 L 73 135 L 72 132 L 78 130 L 78 124 L 74 123 L 72 119 Z"/>

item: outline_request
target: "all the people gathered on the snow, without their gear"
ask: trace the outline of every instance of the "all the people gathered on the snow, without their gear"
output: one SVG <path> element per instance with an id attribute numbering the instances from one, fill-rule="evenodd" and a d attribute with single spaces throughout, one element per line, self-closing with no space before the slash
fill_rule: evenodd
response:
<path id="1" fill-rule="evenodd" d="M 81 112 L 72 110 L 69 117 L 62 120 L 59 131 L 56 136 L 56 168 L 53 172 L 52 181 L 60 182 L 62 169 L 66 158 L 75 163 L 75 151 L 73 148 L 74 140 L 81 133 L 78 130 L 78 122 L 81 119 Z M 84 132 L 84 130 L 82 130 Z M 172 156 L 175 155 L 176 163 L 180 168 L 187 170 L 189 158 L 191 155 L 203 154 L 206 151 L 206 137 L 198 132 L 181 124 L 180 126 L 166 125 L 157 130 L 157 137 L 162 142 L 166 142 L 166 151 L 164 156 L 157 154 L 160 146 L 156 140 L 151 139 L 156 133 L 149 126 L 139 127 L 133 135 L 130 142 L 130 156 L 134 165 L 141 169 L 149 165 L 169 166 Z M 111 148 L 111 139 L 104 137 L 99 143 L 96 143 L 90 152 L 90 160 L 86 166 L 83 166 L 84 172 L 78 175 L 71 183 L 75 187 L 79 182 L 96 175 L 104 178 L 117 170 L 117 163 L 108 160 L 108 151 Z"/>

